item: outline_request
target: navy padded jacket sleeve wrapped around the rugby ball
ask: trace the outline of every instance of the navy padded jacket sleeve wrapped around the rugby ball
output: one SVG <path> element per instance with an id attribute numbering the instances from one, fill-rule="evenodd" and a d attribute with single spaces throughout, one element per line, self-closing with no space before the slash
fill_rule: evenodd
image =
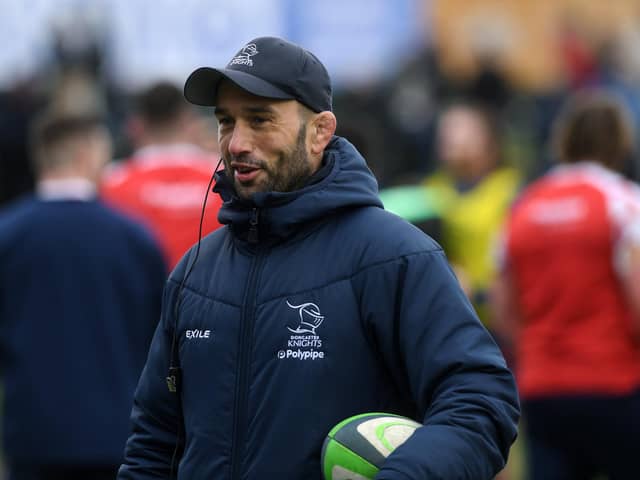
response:
<path id="1" fill-rule="evenodd" d="M 441 250 L 354 278 L 365 328 L 423 426 L 376 480 L 490 480 L 516 438 L 518 396 Z"/>

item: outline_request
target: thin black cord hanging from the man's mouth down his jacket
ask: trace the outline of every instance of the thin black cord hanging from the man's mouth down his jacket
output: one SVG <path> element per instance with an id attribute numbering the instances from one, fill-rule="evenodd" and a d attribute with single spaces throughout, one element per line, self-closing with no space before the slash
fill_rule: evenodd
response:
<path id="1" fill-rule="evenodd" d="M 216 168 L 213 169 L 213 174 L 211 175 L 211 179 L 209 180 L 209 185 L 207 186 L 207 192 L 204 194 L 204 201 L 202 202 L 202 211 L 200 213 L 200 225 L 198 226 L 198 243 L 196 245 L 196 252 L 193 256 L 193 261 L 191 265 L 187 269 L 187 273 L 182 277 L 182 281 L 180 282 L 180 286 L 178 287 L 178 295 L 176 297 L 176 302 L 174 304 L 173 309 L 173 334 L 171 336 L 171 356 L 169 357 L 169 374 L 167 376 L 167 388 L 171 393 L 175 393 L 178 397 L 178 419 L 182 416 L 182 402 L 181 400 L 181 386 L 182 386 L 182 369 L 180 368 L 180 358 L 177 355 L 178 348 L 178 312 L 180 310 L 180 303 L 182 302 L 182 290 L 184 289 L 184 285 L 191 275 L 193 271 L 193 267 L 198 260 L 198 256 L 200 255 L 200 244 L 202 242 L 202 224 L 204 222 L 204 214 L 207 209 L 207 199 L 209 198 L 209 192 L 211 191 L 211 186 L 213 185 L 213 180 L 216 178 L 216 173 L 218 172 L 218 168 L 222 163 L 222 156 L 218 160 L 218 164 Z M 180 424 L 180 420 L 178 420 L 178 429 L 176 433 L 176 446 L 173 449 L 173 455 L 171 456 L 171 467 L 169 472 L 169 478 L 177 478 L 177 459 L 178 459 L 178 451 L 180 450 L 180 444 L 182 443 L 182 425 Z"/>

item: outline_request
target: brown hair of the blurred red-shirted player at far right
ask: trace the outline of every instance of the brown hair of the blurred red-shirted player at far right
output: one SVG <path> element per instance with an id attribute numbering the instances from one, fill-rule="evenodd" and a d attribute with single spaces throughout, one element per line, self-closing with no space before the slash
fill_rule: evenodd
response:
<path id="1" fill-rule="evenodd" d="M 551 146 L 561 162 L 590 160 L 621 170 L 633 151 L 633 137 L 631 117 L 615 95 L 583 90 L 572 95 L 561 110 Z"/>

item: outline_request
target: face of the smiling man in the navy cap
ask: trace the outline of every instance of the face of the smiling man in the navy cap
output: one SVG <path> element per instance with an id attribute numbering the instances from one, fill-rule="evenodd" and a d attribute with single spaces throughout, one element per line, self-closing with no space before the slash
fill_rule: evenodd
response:
<path id="1" fill-rule="evenodd" d="M 238 196 L 290 192 L 304 186 L 315 166 L 306 124 L 294 100 L 257 97 L 230 82 L 218 90 L 218 141 Z"/>

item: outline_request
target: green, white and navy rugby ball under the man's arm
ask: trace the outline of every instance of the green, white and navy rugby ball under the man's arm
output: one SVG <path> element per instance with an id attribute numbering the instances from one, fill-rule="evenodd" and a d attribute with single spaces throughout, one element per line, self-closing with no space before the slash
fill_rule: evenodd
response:
<path id="1" fill-rule="evenodd" d="M 363 413 L 343 420 L 322 446 L 324 479 L 373 479 L 391 452 L 421 426 L 391 413 Z"/>

